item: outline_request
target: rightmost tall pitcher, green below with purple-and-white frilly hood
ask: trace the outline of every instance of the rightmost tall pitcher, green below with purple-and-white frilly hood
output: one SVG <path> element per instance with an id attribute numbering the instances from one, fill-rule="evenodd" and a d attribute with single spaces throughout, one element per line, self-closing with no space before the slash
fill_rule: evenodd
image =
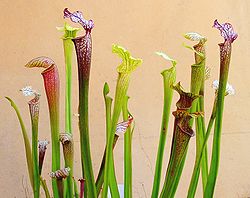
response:
<path id="1" fill-rule="evenodd" d="M 222 131 L 222 117 L 224 110 L 224 98 L 226 85 L 228 80 L 228 72 L 231 58 L 232 42 L 237 38 L 237 34 L 234 32 L 233 27 L 229 23 L 220 25 L 217 20 L 214 22 L 214 27 L 221 31 L 221 35 L 224 37 L 224 43 L 220 46 L 220 78 L 219 89 L 216 104 L 216 119 L 214 127 L 213 149 L 210 163 L 210 170 L 208 181 L 205 190 L 205 198 L 213 197 L 216 179 L 218 176 L 219 162 L 220 162 L 220 142 Z"/>

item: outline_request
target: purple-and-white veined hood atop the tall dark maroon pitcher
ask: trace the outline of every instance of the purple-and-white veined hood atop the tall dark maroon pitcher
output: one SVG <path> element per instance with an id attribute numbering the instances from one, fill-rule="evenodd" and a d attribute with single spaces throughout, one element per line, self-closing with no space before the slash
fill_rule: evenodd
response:
<path id="1" fill-rule="evenodd" d="M 80 11 L 72 13 L 68 10 L 68 8 L 65 8 L 63 13 L 64 13 L 64 18 L 70 18 L 72 22 L 80 23 L 86 31 L 91 31 L 91 29 L 94 27 L 94 22 L 92 20 L 84 19 L 83 14 Z"/>

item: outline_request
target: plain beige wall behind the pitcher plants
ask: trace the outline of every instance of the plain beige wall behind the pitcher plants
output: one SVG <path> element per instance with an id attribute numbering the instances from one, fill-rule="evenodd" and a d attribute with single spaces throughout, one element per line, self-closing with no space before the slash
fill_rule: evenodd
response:
<path id="1" fill-rule="evenodd" d="M 55 27 L 64 23 L 62 11 L 81 10 L 87 19 L 93 19 L 93 62 L 90 81 L 90 133 L 95 174 L 98 171 L 105 143 L 104 103 L 102 87 L 110 84 L 112 94 L 116 82 L 116 66 L 119 59 L 111 53 L 111 44 L 128 48 L 135 57 L 143 59 L 143 65 L 133 73 L 129 88 L 130 109 L 136 119 L 133 139 L 133 194 L 134 197 L 150 197 L 155 155 L 162 113 L 162 79 L 160 72 L 168 63 L 154 55 L 163 50 L 178 60 L 178 81 L 188 89 L 192 53 L 182 47 L 182 34 L 197 31 L 208 38 L 207 65 L 211 78 L 206 83 L 207 112 L 211 111 L 213 90 L 211 82 L 217 79 L 219 55 L 217 43 L 223 39 L 212 28 L 214 19 L 231 22 L 239 34 L 233 44 L 229 81 L 236 95 L 226 98 L 221 145 L 221 166 L 215 197 L 250 196 L 250 131 L 249 131 L 249 65 L 250 62 L 250 1 L 28 1 L 1 0 L 0 2 L 0 194 L 1 197 L 25 197 L 24 188 L 31 189 L 27 177 L 24 146 L 17 118 L 3 96 L 12 97 L 24 116 L 30 131 L 27 98 L 19 89 L 32 85 L 42 93 L 40 139 L 50 139 L 47 102 L 38 69 L 26 69 L 31 58 L 45 55 L 55 60 L 61 75 L 61 131 L 64 130 L 64 59 L 61 33 Z M 186 41 L 185 41 L 186 42 Z M 73 109 L 77 111 L 77 74 L 73 68 Z M 177 99 L 175 95 L 175 101 Z M 173 110 L 175 109 L 173 105 Z M 166 159 L 170 149 L 169 131 Z M 76 140 L 75 176 L 81 175 L 79 163 L 79 135 L 77 118 L 73 120 Z M 211 136 L 212 138 L 212 136 Z M 211 143 L 211 142 L 210 142 Z M 176 197 L 185 197 L 195 155 L 195 138 L 189 147 L 188 158 Z M 46 156 L 43 174 L 48 179 L 50 150 Z M 123 139 L 115 149 L 118 182 L 123 182 Z M 167 162 L 167 161 L 166 161 Z M 164 168 L 166 163 L 164 165 Z M 201 190 L 199 195 L 201 197 Z"/>

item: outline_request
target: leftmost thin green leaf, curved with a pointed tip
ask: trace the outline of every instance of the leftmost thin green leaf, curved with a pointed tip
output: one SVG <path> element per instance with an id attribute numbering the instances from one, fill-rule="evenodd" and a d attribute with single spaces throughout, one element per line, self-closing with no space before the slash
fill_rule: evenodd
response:
<path id="1" fill-rule="evenodd" d="M 15 102 L 9 97 L 5 97 L 5 98 L 10 102 L 10 105 L 15 110 L 19 124 L 21 126 L 24 147 L 25 147 L 25 154 L 26 154 L 26 163 L 27 163 L 28 173 L 29 173 L 29 178 L 30 178 L 30 185 L 31 185 L 32 189 L 34 190 L 34 176 L 33 176 L 34 173 L 33 173 L 32 152 L 31 152 L 31 146 L 30 146 L 30 141 L 29 141 L 28 135 L 27 135 L 27 131 L 26 131 L 25 125 L 23 123 L 22 116 L 21 116 L 19 109 L 16 106 Z"/>

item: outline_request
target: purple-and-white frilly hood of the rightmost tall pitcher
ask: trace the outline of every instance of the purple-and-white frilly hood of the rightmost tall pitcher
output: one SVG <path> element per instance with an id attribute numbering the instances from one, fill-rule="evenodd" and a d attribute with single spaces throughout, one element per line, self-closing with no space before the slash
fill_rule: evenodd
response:
<path id="1" fill-rule="evenodd" d="M 238 37 L 238 34 L 234 32 L 233 26 L 230 23 L 220 24 L 216 19 L 213 27 L 220 30 L 221 36 L 225 39 L 225 41 L 232 43 Z"/>

